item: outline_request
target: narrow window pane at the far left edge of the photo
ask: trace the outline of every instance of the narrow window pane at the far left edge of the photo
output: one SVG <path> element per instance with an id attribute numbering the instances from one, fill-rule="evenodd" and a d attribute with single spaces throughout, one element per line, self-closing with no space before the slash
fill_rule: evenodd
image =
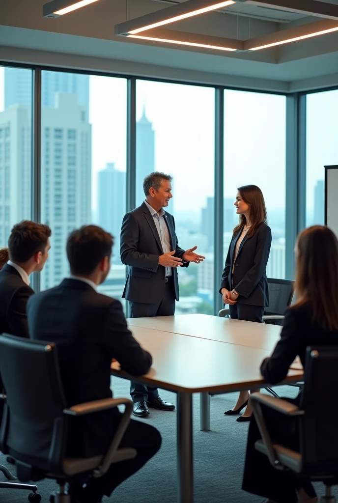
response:
<path id="1" fill-rule="evenodd" d="M 0 247 L 32 214 L 32 78 L 30 69 L 0 66 Z"/>

